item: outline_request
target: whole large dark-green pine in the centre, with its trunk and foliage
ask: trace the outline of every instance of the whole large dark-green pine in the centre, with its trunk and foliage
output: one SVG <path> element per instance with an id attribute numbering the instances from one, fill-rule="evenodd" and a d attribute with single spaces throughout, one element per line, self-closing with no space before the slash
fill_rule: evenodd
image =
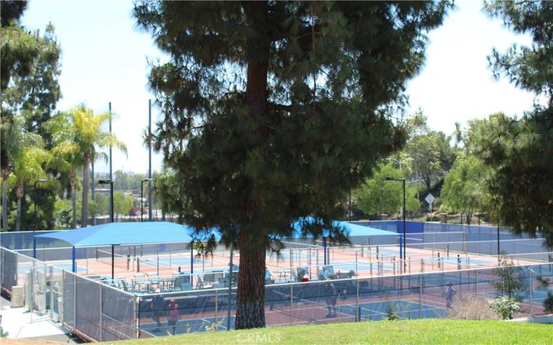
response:
<path id="1" fill-rule="evenodd" d="M 171 56 L 151 69 L 165 114 L 153 146 L 182 175 L 198 236 L 216 226 L 240 252 L 236 328 L 265 326 L 265 250 L 281 248 L 294 221 L 310 219 L 305 235 L 346 241 L 332 219 L 350 188 L 402 146 L 391 113 L 449 7 L 135 3 L 138 26 Z"/>

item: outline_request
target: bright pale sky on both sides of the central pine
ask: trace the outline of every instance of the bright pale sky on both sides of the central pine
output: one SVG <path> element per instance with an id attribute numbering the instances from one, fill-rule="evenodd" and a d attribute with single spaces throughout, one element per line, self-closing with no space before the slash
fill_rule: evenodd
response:
<path id="1" fill-rule="evenodd" d="M 454 122 L 465 124 L 475 117 L 503 111 L 522 115 L 534 95 L 518 90 L 505 79 L 496 81 L 487 68 L 491 48 L 505 50 L 512 43 L 528 45 L 529 36 L 516 36 L 481 12 L 482 2 L 456 2 L 444 25 L 429 34 L 427 63 L 408 84 L 410 112 L 422 108 L 431 128 L 451 134 Z M 129 158 L 113 155 L 113 170 L 146 172 L 148 152 L 142 130 L 148 121 L 147 58 L 162 54 L 144 32 L 135 30 L 132 1 L 39 1 L 31 0 L 24 13 L 28 29 L 44 30 L 51 21 L 62 45 L 63 98 L 58 108 L 66 110 L 86 103 L 94 110 L 107 110 L 112 102 L 118 119 L 113 132 L 129 148 Z M 153 109 L 153 123 L 158 110 Z M 153 169 L 162 157 L 154 155 Z M 106 166 L 97 163 L 97 171 Z"/>

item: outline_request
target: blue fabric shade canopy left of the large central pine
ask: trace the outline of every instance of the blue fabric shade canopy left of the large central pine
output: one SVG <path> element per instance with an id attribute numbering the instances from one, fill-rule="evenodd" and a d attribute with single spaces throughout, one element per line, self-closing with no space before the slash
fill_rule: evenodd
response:
<path id="1" fill-rule="evenodd" d="M 214 232 L 216 239 L 218 234 Z M 169 221 L 126 221 L 107 223 L 88 228 L 59 231 L 35 238 L 61 239 L 71 246 L 109 246 L 111 244 L 151 244 L 170 242 L 191 242 L 196 239 L 191 226 Z"/>

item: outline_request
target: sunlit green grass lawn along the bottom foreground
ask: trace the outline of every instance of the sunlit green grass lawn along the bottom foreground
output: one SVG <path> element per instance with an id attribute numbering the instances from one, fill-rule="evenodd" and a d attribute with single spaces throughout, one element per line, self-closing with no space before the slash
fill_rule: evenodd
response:
<path id="1" fill-rule="evenodd" d="M 423 319 L 271 327 L 130 340 L 117 344 L 553 344 L 553 326 Z"/>

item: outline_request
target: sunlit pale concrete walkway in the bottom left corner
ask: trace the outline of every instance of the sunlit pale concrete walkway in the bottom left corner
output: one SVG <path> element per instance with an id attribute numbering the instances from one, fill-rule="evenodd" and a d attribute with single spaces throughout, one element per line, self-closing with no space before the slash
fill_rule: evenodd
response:
<path id="1" fill-rule="evenodd" d="M 29 313 L 26 308 L 11 308 L 10 301 L 0 297 L 1 326 L 9 339 L 44 339 L 72 342 L 69 331 L 53 322 L 49 316 Z M 78 340 L 77 340 L 78 341 Z"/>

